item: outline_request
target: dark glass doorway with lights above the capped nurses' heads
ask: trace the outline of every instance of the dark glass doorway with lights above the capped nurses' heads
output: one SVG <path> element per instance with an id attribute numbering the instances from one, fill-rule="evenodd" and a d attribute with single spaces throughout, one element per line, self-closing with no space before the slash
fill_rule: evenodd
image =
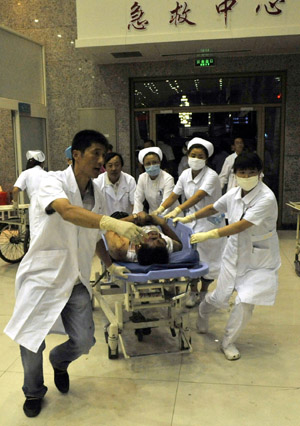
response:
<path id="1" fill-rule="evenodd" d="M 212 109 L 205 112 L 195 109 L 153 111 L 151 139 L 158 144 L 162 141 L 172 148 L 177 166 L 187 141 L 196 136 L 207 139 L 215 147 L 211 167 L 219 173 L 222 167 L 221 159 L 224 161 L 226 156 L 232 153 L 232 142 L 236 137 L 243 138 L 246 150 L 262 154 L 260 116 L 260 108 L 226 108 L 223 111 Z"/>

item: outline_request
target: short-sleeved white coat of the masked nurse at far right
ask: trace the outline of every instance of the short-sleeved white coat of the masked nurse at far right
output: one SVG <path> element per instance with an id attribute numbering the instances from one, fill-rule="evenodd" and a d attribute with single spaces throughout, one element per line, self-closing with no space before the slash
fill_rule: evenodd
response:
<path id="1" fill-rule="evenodd" d="M 275 195 L 262 182 L 241 197 L 241 188 L 233 188 L 221 197 L 214 208 L 227 212 L 229 223 L 241 218 L 254 226 L 227 239 L 217 284 L 217 307 L 227 306 L 235 289 L 243 303 L 273 305 L 280 267 L 276 232 L 278 208 Z M 218 241 L 218 240 L 217 240 Z"/>

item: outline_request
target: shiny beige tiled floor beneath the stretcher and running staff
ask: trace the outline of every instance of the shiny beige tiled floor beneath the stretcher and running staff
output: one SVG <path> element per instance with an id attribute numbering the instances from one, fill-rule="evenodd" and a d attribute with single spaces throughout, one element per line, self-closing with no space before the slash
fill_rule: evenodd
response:
<path id="1" fill-rule="evenodd" d="M 210 332 L 195 332 L 193 352 L 109 360 L 104 316 L 94 312 L 97 343 L 69 368 L 71 389 L 53 384 L 48 351 L 63 336 L 47 338 L 48 393 L 41 414 L 25 417 L 18 346 L 2 332 L 14 306 L 17 266 L 0 263 L 0 425 L 285 426 L 300 425 L 300 278 L 294 272 L 295 232 L 280 232 L 282 267 L 275 306 L 255 308 L 238 340 L 242 357 L 227 361 L 219 340 L 228 317 L 218 312 Z M 134 344 L 143 342 L 133 340 Z"/>

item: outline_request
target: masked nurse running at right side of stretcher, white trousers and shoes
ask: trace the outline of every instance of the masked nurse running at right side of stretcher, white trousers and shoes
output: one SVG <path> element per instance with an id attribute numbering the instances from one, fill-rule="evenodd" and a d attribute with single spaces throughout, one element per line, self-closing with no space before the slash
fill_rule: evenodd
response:
<path id="1" fill-rule="evenodd" d="M 228 213 L 228 226 L 191 237 L 191 243 L 203 244 L 211 238 L 218 242 L 229 236 L 217 287 L 200 304 L 197 321 L 199 333 L 206 333 L 209 315 L 217 308 L 228 307 L 230 296 L 237 292 L 221 344 L 228 360 L 240 358 L 234 343 L 250 320 L 254 306 L 274 304 L 280 267 L 277 202 L 260 179 L 262 162 L 256 153 L 241 154 L 233 168 L 238 187 L 190 218 L 203 220 L 217 212 Z"/>

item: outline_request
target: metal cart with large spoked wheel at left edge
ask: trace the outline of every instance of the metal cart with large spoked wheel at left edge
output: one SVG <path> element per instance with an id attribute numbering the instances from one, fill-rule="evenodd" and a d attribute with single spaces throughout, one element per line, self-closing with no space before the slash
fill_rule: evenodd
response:
<path id="1" fill-rule="evenodd" d="M 0 258 L 8 263 L 18 263 L 27 252 L 30 241 L 29 204 L 0 206 Z"/>

